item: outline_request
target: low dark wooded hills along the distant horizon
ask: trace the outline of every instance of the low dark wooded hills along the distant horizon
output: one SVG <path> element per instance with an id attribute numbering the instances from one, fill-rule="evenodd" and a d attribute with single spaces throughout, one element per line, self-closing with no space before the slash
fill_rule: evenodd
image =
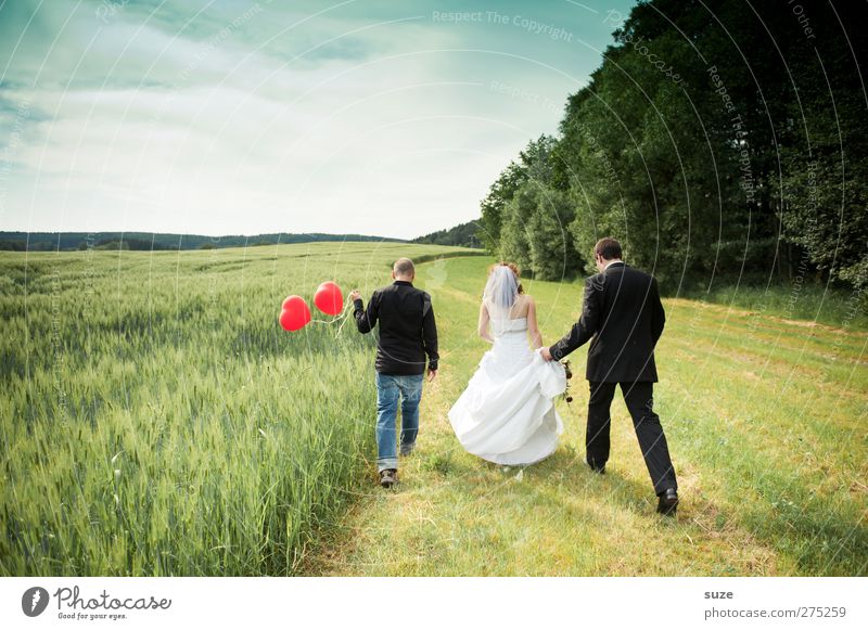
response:
<path id="1" fill-rule="evenodd" d="M 316 242 L 387 242 L 422 243 L 480 247 L 475 237 L 476 222 L 461 223 L 448 230 L 432 232 L 412 241 L 367 234 L 293 234 L 279 232 L 255 236 L 204 236 L 201 234 L 153 234 L 150 232 L 0 232 L 0 250 L 73 252 L 76 249 L 183 250 L 252 247 L 288 243 Z"/>

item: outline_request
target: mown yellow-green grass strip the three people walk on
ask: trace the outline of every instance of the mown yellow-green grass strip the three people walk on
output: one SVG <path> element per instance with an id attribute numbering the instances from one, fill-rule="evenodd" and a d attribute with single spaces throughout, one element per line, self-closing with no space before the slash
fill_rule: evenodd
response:
<path id="1" fill-rule="evenodd" d="M 417 452 L 401 462 L 396 490 L 378 488 L 370 466 L 306 573 L 865 574 L 868 335 L 664 300 L 655 406 L 682 503 L 677 520 L 663 519 L 620 395 L 608 474 L 584 463 L 585 348 L 572 356 L 575 400 L 559 403 L 566 426 L 554 455 L 505 468 L 458 445 L 446 414 L 487 348 L 475 335 L 486 263 L 419 267 L 417 285 L 434 297 L 443 359 L 439 377 L 425 386 Z M 580 285 L 525 288 L 551 343 L 577 317 Z"/>

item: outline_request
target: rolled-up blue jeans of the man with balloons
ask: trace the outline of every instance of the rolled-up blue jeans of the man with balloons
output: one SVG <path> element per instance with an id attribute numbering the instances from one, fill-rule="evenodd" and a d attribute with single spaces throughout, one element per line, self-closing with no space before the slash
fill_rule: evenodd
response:
<path id="1" fill-rule="evenodd" d="M 419 434 L 419 401 L 424 374 L 376 373 L 376 466 L 398 467 L 397 414 L 400 398 L 400 451 L 409 453 Z"/>

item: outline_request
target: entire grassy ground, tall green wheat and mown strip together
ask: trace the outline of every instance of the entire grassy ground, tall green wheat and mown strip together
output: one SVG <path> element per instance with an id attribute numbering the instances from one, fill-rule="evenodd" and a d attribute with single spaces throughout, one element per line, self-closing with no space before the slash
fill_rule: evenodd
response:
<path id="1" fill-rule="evenodd" d="M 488 347 L 475 324 L 492 261 L 469 253 L 0 254 L 0 571 L 865 575 L 864 319 L 793 319 L 780 296 L 768 308 L 664 299 L 655 408 L 681 494 L 666 519 L 617 396 L 608 474 L 584 464 L 586 348 L 571 357 L 554 455 L 506 468 L 461 450 L 446 412 Z M 385 491 L 373 336 L 316 310 L 321 322 L 286 333 L 278 314 L 290 294 L 312 304 L 324 280 L 367 301 L 399 256 L 421 262 L 442 369 L 417 451 Z M 552 343 L 577 318 L 582 284 L 524 285 Z M 816 310 L 806 299 L 799 308 Z"/>

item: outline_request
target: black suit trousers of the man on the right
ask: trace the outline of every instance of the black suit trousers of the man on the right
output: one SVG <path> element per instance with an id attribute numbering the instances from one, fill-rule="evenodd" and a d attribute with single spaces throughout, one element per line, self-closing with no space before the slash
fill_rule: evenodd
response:
<path id="1" fill-rule="evenodd" d="M 615 395 L 617 383 L 589 383 L 590 400 L 588 401 L 588 427 L 585 434 L 588 464 L 592 468 L 600 468 L 609 460 L 609 429 L 611 419 L 609 408 Z M 637 381 L 621 383 L 624 402 L 633 417 L 636 437 L 654 485 L 658 496 L 667 488 L 678 489 L 675 479 L 675 468 L 669 459 L 669 447 L 660 416 L 654 413 L 654 384 Z"/>

